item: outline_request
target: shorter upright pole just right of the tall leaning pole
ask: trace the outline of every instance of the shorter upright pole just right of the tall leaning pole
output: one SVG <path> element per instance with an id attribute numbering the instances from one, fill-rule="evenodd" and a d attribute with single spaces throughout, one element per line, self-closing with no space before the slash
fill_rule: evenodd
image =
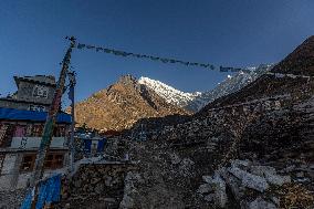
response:
<path id="1" fill-rule="evenodd" d="M 71 101 L 71 116 L 72 116 L 72 124 L 71 124 L 71 138 L 70 138 L 70 166 L 71 173 L 74 170 L 74 128 L 75 128 L 75 115 L 74 115 L 74 86 L 76 84 L 75 80 L 75 71 L 69 72 L 69 80 L 70 80 L 70 92 L 69 98 Z"/>

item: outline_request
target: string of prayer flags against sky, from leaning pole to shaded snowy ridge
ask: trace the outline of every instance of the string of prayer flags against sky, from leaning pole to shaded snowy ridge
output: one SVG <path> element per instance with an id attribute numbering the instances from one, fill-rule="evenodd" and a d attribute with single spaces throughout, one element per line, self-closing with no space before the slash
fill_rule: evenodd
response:
<path id="1" fill-rule="evenodd" d="M 114 50 L 114 49 L 107 49 L 107 48 L 102 48 L 102 46 L 87 45 L 87 44 L 83 44 L 83 43 L 78 43 L 76 48 L 78 50 L 86 48 L 88 50 L 95 50 L 96 52 L 104 52 L 104 53 L 113 54 L 113 55 L 117 55 L 117 56 L 132 56 L 132 58 L 137 58 L 137 59 L 147 59 L 147 60 L 150 60 L 150 61 L 157 61 L 157 62 L 163 62 L 163 63 L 182 64 L 182 65 L 186 65 L 186 66 L 199 66 L 199 67 L 209 69 L 209 70 L 219 70 L 220 72 L 240 72 L 240 71 L 242 71 L 243 73 L 250 73 L 251 72 L 248 69 L 226 67 L 226 66 L 220 66 L 218 69 L 214 65 L 208 64 L 208 63 L 185 62 L 185 61 L 175 60 L 175 59 L 159 58 L 159 56 L 153 56 L 153 55 L 147 55 L 147 54 L 130 53 L 130 52 L 125 52 L 125 51 L 119 51 L 119 50 Z"/>

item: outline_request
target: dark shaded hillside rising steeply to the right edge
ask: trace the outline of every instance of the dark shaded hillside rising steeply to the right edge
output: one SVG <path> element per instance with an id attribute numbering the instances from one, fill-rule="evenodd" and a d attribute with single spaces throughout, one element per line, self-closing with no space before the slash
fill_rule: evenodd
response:
<path id="1" fill-rule="evenodd" d="M 255 82 L 244 86 L 240 91 L 226 95 L 208 104 L 199 114 L 213 107 L 221 107 L 252 100 L 266 97 L 292 97 L 300 100 L 313 90 L 313 82 L 310 76 L 314 72 L 314 36 L 305 40 L 283 61 L 276 64 L 271 73 L 260 76 Z M 305 98 L 308 98 L 305 97 Z"/>

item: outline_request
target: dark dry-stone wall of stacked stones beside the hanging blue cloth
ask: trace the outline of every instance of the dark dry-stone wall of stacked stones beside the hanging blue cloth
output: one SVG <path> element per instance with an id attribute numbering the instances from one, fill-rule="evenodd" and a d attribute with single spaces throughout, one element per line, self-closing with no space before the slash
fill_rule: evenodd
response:
<path id="1" fill-rule="evenodd" d="M 81 165 L 64 177 L 62 200 L 56 208 L 118 208 L 124 195 L 124 179 L 135 167 L 128 163 Z"/>

